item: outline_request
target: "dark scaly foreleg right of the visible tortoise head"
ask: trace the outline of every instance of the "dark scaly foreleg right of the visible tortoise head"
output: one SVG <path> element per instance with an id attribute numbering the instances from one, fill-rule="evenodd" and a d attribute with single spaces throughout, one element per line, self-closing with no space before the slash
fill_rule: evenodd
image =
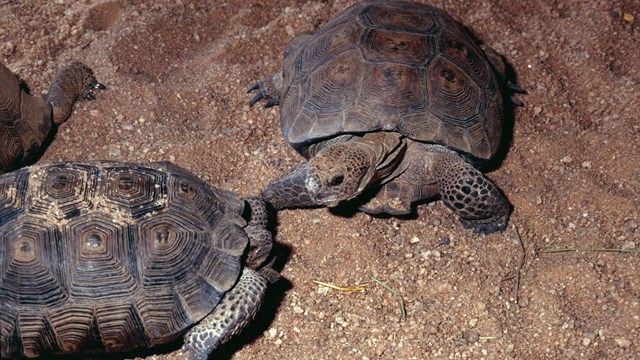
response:
<path id="1" fill-rule="evenodd" d="M 457 153 L 431 145 L 430 173 L 445 205 L 476 233 L 503 231 L 511 207 L 498 188 Z"/>

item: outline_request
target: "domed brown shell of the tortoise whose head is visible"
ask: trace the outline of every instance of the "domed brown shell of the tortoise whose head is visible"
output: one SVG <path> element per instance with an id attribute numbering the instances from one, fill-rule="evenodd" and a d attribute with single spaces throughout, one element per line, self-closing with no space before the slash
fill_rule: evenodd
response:
<path id="1" fill-rule="evenodd" d="M 444 11 L 358 3 L 285 50 L 281 125 L 308 145 L 345 133 L 397 131 L 478 158 L 497 151 L 503 99 L 484 52 Z"/>

